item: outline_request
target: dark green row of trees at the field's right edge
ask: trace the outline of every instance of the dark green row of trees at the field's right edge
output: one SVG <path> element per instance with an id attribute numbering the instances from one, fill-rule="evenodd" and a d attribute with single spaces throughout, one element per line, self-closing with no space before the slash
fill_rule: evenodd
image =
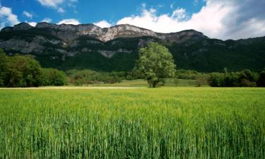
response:
<path id="1" fill-rule="evenodd" d="M 264 87 L 265 70 L 260 73 L 249 69 L 237 72 L 210 73 L 208 83 L 212 87 Z"/>

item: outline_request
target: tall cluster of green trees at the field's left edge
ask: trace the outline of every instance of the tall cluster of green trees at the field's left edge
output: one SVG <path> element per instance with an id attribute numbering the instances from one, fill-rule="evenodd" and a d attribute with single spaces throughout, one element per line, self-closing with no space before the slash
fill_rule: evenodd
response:
<path id="1" fill-rule="evenodd" d="M 6 56 L 0 49 L 0 87 L 63 86 L 67 76 L 57 69 L 42 69 L 30 55 Z"/>

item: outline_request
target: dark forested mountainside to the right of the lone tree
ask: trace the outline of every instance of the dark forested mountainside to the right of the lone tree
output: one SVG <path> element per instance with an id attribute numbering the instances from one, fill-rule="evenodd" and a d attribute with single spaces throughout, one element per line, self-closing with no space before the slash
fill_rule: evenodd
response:
<path id="1" fill-rule="evenodd" d="M 220 72 L 251 69 L 261 71 L 265 67 L 265 37 L 247 40 L 206 39 L 165 45 L 173 55 L 179 69 L 200 72 Z"/>

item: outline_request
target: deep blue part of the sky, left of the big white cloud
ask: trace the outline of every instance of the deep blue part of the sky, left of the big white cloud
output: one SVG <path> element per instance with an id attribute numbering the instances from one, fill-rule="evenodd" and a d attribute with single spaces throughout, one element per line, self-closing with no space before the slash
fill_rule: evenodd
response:
<path id="1" fill-rule="evenodd" d="M 56 0 L 54 1 L 56 2 Z M 46 2 L 47 5 L 43 2 Z M 39 22 L 43 20 L 43 18 L 51 18 L 53 23 L 57 23 L 62 19 L 75 18 L 80 23 L 95 23 L 100 20 L 107 20 L 110 23 L 115 23 L 121 18 L 136 14 L 141 10 L 143 4 L 146 4 L 146 6 L 150 8 L 156 8 L 159 13 L 169 13 L 175 8 L 186 8 L 187 12 L 194 13 L 199 11 L 201 6 L 205 4 L 205 1 L 200 1 L 200 3 L 195 4 L 192 0 L 57 0 L 57 2 L 56 6 L 53 6 L 49 0 L 1 0 L 1 5 L 12 8 L 12 12 L 18 16 L 20 21 L 28 20 Z M 62 10 L 59 11 L 59 8 L 62 8 Z M 33 18 L 28 18 L 23 15 L 23 11 L 32 14 Z"/>

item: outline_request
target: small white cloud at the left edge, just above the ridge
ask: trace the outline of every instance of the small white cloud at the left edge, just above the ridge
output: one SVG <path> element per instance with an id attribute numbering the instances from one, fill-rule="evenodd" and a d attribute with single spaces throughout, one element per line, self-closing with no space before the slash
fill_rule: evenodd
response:
<path id="1" fill-rule="evenodd" d="M 7 25 L 16 25 L 19 22 L 18 16 L 12 13 L 12 9 L 8 7 L 0 7 L 0 29 Z"/>

